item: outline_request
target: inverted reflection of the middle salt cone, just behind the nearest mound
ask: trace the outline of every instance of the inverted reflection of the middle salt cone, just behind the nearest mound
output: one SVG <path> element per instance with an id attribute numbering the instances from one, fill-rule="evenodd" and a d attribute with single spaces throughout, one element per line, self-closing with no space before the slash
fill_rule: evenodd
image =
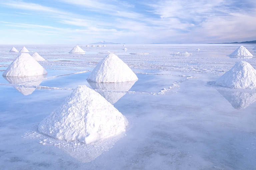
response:
<path id="1" fill-rule="evenodd" d="M 125 92 L 130 90 L 136 81 L 137 80 L 121 83 L 96 83 L 88 81 L 88 83 L 93 89 L 102 90 L 99 91 L 99 94 L 109 101 L 109 103 L 114 104 L 126 94 Z"/>

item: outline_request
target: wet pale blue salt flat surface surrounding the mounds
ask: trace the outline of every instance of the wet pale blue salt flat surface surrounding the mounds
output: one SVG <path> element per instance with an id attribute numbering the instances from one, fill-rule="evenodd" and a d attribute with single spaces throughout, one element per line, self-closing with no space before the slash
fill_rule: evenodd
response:
<path id="1" fill-rule="evenodd" d="M 128 44 L 126 47 L 135 49 Z M 140 45 L 129 53 L 145 47 Z M 193 52 L 188 49 L 203 50 L 199 45 L 179 48 L 184 48 L 180 52 L 189 53 Z M 114 51 L 109 49 L 106 51 Z M 94 145 L 56 140 L 37 130 L 39 122 L 61 105 L 71 89 L 82 84 L 91 87 L 86 80 L 90 72 L 73 74 L 88 69 L 89 64 L 75 67 L 50 62 L 52 69 L 47 69 L 45 78 L 55 78 L 43 80 L 40 86 L 45 88 L 35 89 L 27 96 L 13 86 L 0 85 L 0 169 L 256 169 L 256 91 L 207 85 L 231 68 L 235 60 L 192 56 L 193 59 L 175 58 L 181 63 L 179 66 L 172 62 L 166 66 L 149 64 L 160 60 L 164 63 L 168 60 L 165 56 L 122 56 L 136 67 L 133 71 L 139 78 L 130 92 L 114 103 L 130 125 L 125 134 Z M 84 63 L 101 58 L 88 57 Z M 145 59 L 147 63 L 140 65 Z M 255 68 L 253 58 L 246 61 Z M 189 69 L 188 65 L 200 67 L 195 67 L 197 72 L 179 71 L 181 66 Z M 64 68 L 69 70 L 58 70 Z M 197 78 L 184 81 L 189 76 Z M 9 84 L 2 76 L 0 83 Z M 164 88 L 167 92 L 158 94 Z"/>

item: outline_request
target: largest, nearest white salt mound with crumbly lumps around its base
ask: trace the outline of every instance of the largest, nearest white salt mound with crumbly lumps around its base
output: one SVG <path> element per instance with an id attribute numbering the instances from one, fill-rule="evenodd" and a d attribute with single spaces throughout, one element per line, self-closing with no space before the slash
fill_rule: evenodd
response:
<path id="1" fill-rule="evenodd" d="M 91 143 L 125 132 L 127 119 L 104 97 L 78 86 L 38 126 L 41 133 L 67 141 Z"/>

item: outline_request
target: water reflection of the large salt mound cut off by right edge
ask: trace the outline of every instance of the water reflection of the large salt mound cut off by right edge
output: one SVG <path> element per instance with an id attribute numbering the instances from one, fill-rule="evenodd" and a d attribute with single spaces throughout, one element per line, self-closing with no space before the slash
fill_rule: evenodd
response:
<path id="1" fill-rule="evenodd" d="M 256 93 L 249 93 L 237 90 L 217 89 L 218 92 L 232 105 L 235 109 L 245 109 L 256 100 Z"/>

